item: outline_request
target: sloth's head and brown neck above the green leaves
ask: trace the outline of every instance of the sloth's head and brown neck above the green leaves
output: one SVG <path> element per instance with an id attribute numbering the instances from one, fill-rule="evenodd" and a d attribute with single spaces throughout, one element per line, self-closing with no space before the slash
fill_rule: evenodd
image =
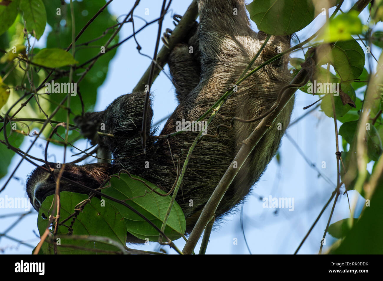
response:
<path id="1" fill-rule="evenodd" d="M 56 180 L 60 172 L 60 168 L 56 168 L 56 165 L 56 163 L 49 163 L 51 172 L 47 172 L 46 165 L 39 166 L 28 176 L 26 192 L 36 211 L 39 211 L 44 199 L 54 194 L 56 190 Z M 76 185 L 72 181 L 93 189 L 99 188 L 111 173 L 112 166 L 109 163 L 93 163 L 81 166 L 66 164 L 60 179 L 60 192 L 71 191 L 88 194 L 89 191 L 87 189 Z"/>

